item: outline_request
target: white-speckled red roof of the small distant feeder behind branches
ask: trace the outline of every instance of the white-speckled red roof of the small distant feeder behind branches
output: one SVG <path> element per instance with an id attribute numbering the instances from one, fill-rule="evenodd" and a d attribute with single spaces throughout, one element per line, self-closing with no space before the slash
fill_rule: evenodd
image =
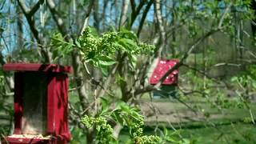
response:
<path id="1" fill-rule="evenodd" d="M 154 72 L 150 77 L 150 84 L 155 85 L 158 83 L 160 78 L 168 70 L 174 67 L 178 63 L 178 59 L 159 59 L 157 66 L 154 68 Z M 162 85 L 177 85 L 178 84 L 178 70 L 174 70 L 171 74 L 169 74 L 166 79 L 162 82 Z"/>

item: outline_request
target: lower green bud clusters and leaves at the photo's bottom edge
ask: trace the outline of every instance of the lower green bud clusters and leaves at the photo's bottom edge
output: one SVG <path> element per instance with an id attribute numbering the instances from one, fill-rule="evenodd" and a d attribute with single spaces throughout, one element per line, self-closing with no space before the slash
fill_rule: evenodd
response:
<path id="1" fill-rule="evenodd" d="M 113 114 L 113 115 L 112 115 Z M 113 111 L 114 120 L 120 122 L 122 126 L 127 126 L 130 130 L 131 142 L 134 144 L 154 144 L 160 142 L 160 138 L 156 135 L 143 135 L 144 118 L 139 114 L 138 108 L 120 104 L 120 107 Z M 98 116 L 96 118 L 84 116 L 82 123 L 87 128 L 94 128 L 96 143 L 118 143 L 118 140 L 113 138 L 113 128 L 107 123 L 106 116 Z"/>

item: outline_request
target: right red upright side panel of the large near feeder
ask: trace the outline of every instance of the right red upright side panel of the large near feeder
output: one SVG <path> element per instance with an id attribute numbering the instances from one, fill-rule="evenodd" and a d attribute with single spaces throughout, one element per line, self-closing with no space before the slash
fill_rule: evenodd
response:
<path id="1" fill-rule="evenodd" d="M 68 78 L 66 74 L 51 74 L 48 85 L 48 134 L 61 135 L 70 140 L 68 129 Z"/>

